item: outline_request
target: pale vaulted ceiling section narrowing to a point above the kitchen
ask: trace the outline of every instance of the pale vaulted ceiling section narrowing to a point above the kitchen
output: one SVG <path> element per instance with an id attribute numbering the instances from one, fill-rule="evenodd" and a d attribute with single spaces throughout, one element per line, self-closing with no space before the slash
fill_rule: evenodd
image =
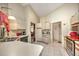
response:
<path id="1" fill-rule="evenodd" d="M 27 3 L 22 4 L 23 6 L 27 6 Z M 34 11 L 37 13 L 39 17 L 45 16 L 50 12 L 54 11 L 56 8 L 63 5 L 63 3 L 30 3 Z"/>

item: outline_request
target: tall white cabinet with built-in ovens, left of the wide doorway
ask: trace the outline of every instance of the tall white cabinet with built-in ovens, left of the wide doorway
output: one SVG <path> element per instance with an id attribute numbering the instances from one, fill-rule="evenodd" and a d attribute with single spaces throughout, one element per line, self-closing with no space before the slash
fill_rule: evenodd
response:
<path id="1" fill-rule="evenodd" d="M 42 28 L 42 42 L 50 43 L 50 22 L 46 17 L 40 19 Z"/>

